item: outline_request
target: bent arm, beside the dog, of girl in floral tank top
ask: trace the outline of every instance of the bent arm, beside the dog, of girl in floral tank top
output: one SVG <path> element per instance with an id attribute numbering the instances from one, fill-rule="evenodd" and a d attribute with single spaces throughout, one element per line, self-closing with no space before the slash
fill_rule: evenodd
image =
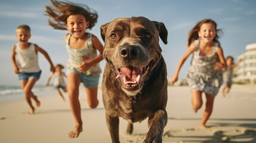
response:
<path id="1" fill-rule="evenodd" d="M 98 38 L 96 36 L 92 36 L 92 45 L 94 46 L 94 48 L 98 49 L 100 54 L 98 54 L 97 57 L 93 58 L 90 61 L 80 63 L 80 66 L 76 68 L 76 70 L 81 71 L 82 73 L 86 73 L 86 71 L 89 70 L 92 66 L 103 60 L 103 46 L 101 45 L 100 41 L 98 41 Z"/>

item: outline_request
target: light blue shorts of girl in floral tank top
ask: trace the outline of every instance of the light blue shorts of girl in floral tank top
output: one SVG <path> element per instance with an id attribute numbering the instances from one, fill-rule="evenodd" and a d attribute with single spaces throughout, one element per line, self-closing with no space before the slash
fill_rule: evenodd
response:
<path id="1" fill-rule="evenodd" d="M 98 79 L 100 79 L 100 75 L 92 75 L 92 74 L 85 74 L 81 73 L 76 69 L 69 69 L 67 68 L 67 75 L 69 73 L 76 73 L 80 76 L 81 82 L 84 83 L 86 88 L 96 88 L 98 86 Z"/>

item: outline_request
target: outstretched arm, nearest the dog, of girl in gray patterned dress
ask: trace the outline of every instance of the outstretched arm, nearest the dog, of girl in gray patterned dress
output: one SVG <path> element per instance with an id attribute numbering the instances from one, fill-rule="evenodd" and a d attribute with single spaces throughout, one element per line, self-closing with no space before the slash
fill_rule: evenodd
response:
<path id="1" fill-rule="evenodd" d="M 180 61 L 178 62 L 177 69 L 175 70 L 174 75 L 171 78 L 171 83 L 177 82 L 178 80 L 178 73 L 180 72 L 181 67 L 183 66 L 184 62 L 187 60 L 187 57 L 189 57 L 190 54 L 192 54 L 195 51 L 195 43 L 191 43 L 185 54 L 181 57 Z"/>

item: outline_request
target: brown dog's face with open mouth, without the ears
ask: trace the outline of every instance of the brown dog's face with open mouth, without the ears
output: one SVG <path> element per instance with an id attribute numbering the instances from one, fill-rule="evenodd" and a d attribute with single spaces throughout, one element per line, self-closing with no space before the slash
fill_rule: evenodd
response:
<path id="1" fill-rule="evenodd" d="M 136 95 L 162 56 L 156 26 L 143 17 L 118 18 L 101 26 L 101 36 L 116 80 L 127 95 Z"/>

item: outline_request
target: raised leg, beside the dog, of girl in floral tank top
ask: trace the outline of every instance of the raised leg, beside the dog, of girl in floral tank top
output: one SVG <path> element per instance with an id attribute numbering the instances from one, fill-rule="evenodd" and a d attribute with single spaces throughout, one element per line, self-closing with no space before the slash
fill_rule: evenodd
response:
<path id="1" fill-rule="evenodd" d="M 87 93 L 87 102 L 90 108 L 96 108 L 98 106 L 98 87 L 96 88 L 85 88 L 85 92 Z"/>

